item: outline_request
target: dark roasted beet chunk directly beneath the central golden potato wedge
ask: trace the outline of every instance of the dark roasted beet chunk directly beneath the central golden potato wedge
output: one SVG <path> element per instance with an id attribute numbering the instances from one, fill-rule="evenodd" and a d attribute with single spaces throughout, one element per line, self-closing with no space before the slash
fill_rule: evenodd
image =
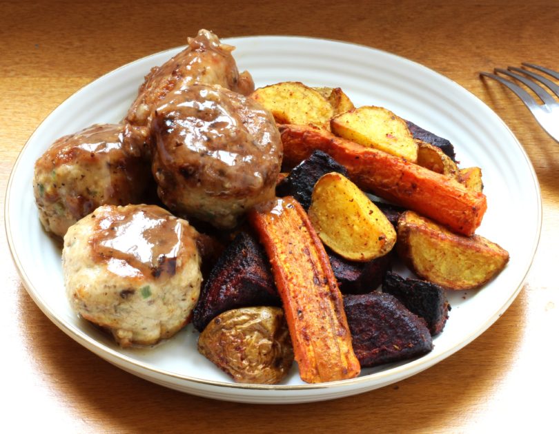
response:
<path id="1" fill-rule="evenodd" d="M 362 294 L 374 291 L 382 283 L 386 270 L 391 265 L 392 254 L 369 262 L 355 262 L 342 258 L 327 250 L 334 276 L 344 294 Z"/>

